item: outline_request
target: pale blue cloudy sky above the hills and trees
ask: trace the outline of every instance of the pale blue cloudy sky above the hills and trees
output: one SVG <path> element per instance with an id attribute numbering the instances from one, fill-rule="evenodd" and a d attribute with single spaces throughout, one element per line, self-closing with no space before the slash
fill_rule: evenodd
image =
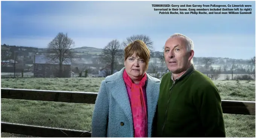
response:
<path id="1" fill-rule="evenodd" d="M 252 5 L 252 14 L 159 14 L 152 4 Z M 137 34 L 148 35 L 160 51 L 173 33 L 194 41 L 196 57 L 249 59 L 255 56 L 255 2 L 67 2 L 2 1 L 1 44 L 47 47 L 68 33 L 76 47 L 103 48 Z"/>

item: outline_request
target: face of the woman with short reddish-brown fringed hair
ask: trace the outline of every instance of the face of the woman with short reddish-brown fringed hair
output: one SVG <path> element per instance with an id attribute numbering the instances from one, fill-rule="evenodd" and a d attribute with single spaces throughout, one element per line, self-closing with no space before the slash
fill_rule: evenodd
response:
<path id="1" fill-rule="evenodd" d="M 146 63 L 136 54 L 125 60 L 125 70 L 132 80 L 140 80 L 146 71 Z"/>

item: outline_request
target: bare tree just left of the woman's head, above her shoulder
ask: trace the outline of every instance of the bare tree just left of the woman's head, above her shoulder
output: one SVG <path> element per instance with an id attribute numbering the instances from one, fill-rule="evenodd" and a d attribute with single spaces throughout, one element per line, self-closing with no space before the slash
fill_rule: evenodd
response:
<path id="1" fill-rule="evenodd" d="M 121 58 L 123 53 L 120 42 L 117 39 L 110 41 L 102 50 L 101 58 L 107 64 L 110 64 L 111 74 L 114 72 L 114 64 L 117 63 L 117 59 Z"/>

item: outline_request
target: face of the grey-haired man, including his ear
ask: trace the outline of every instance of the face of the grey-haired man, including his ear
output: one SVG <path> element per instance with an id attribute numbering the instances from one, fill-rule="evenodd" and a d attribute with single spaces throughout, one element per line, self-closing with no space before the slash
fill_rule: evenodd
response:
<path id="1" fill-rule="evenodd" d="M 172 73 L 178 74 L 187 70 L 189 61 L 194 56 L 194 51 L 191 50 L 191 52 L 187 52 L 185 38 L 176 36 L 169 38 L 165 42 L 164 56 L 168 69 Z"/>

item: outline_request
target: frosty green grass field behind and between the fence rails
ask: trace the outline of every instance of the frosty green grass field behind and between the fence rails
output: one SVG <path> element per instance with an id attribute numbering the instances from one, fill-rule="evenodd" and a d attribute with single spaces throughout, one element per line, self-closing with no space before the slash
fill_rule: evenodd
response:
<path id="1" fill-rule="evenodd" d="M 98 92 L 104 78 L 2 79 L 2 88 Z M 255 101 L 255 81 L 216 80 L 222 100 Z M 1 121 L 91 130 L 93 104 L 1 99 Z M 224 114 L 227 137 L 255 137 L 255 116 Z M 21 137 L 2 133 L 2 137 Z"/>

